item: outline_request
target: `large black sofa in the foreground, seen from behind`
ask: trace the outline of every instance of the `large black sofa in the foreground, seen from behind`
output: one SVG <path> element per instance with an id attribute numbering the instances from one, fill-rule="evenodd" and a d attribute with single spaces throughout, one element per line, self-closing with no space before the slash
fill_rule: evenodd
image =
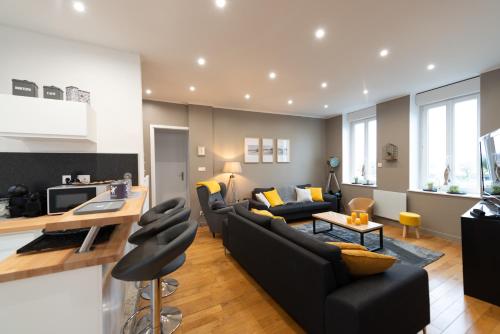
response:
<path id="1" fill-rule="evenodd" d="M 223 226 L 225 248 L 307 333 L 415 334 L 430 323 L 425 270 L 395 264 L 354 279 L 339 248 L 282 220 L 235 211 Z"/>

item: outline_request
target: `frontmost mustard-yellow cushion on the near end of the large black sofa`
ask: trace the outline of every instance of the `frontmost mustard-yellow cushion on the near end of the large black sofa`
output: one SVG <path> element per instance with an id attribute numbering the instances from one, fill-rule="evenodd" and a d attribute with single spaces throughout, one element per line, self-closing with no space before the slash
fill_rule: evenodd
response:
<path id="1" fill-rule="evenodd" d="M 343 249 L 342 260 L 353 276 L 378 274 L 386 271 L 396 262 L 393 256 L 356 249 Z"/>

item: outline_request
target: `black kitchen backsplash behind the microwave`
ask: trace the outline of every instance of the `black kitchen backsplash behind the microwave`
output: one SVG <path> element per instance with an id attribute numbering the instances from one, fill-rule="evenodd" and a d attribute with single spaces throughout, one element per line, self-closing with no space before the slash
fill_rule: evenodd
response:
<path id="1" fill-rule="evenodd" d="M 14 184 L 43 193 L 60 185 L 64 174 L 88 174 L 97 181 L 122 179 L 130 172 L 137 185 L 137 168 L 137 154 L 0 152 L 0 195 Z"/>

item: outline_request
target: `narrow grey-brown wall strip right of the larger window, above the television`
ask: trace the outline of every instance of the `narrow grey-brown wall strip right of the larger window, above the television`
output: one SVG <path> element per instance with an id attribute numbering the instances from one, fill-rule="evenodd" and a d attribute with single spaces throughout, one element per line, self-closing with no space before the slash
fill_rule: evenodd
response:
<path id="1" fill-rule="evenodd" d="M 481 135 L 500 127 L 500 69 L 481 74 Z"/>

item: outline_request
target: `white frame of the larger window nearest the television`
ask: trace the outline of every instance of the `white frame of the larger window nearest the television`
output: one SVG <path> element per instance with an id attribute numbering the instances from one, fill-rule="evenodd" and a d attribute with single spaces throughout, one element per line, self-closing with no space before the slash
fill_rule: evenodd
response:
<path id="1" fill-rule="evenodd" d="M 480 101 L 480 93 L 473 93 L 473 94 L 467 94 L 463 96 L 458 96 L 446 100 L 442 100 L 439 102 L 434 102 L 426 105 L 420 106 L 420 164 L 419 164 L 419 182 L 418 186 L 420 189 L 424 189 L 425 185 L 428 181 L 428 175 L 429 175 L 429 164 L 428 164 L 428 123 L 427 123 L 427 115 L 428 115 L 428 110 L 439 107 L 439 106 L 445 106 L 446 107 L 446 163 L 447 165 L 450 166 L 450 179 L 452 180 L 451 184 L 454 184 L 453 180 L 455 179 L 455 141 L 454 141 L 454 135 L 455 135 L 455 104 L 463 101 L 468 101 L 476 99 L 476 117 L 477 117 L 477 129 L 476 129 L 476 134 L 477 134 L 477 141 L 478 144 L 476 146 L 476 180 L 474 184 L 474 189 L 471 188 L 464 188 L 463 185 L 458 184 L 460 186 L 460 190 L 464 191 L 466 193 L 471 193 L 471 194 L 479 194 L 480 193 L 480 152 L 479 152 L 479 138 L 480 138 L 480 115 L 481 115 L 481 101 Z M 444 170 L 443 170 L 444 173 Z M 441 180 L 443 181 L 443 180 Z M 441 189 L 443 190 L 443 189 Z"/>

